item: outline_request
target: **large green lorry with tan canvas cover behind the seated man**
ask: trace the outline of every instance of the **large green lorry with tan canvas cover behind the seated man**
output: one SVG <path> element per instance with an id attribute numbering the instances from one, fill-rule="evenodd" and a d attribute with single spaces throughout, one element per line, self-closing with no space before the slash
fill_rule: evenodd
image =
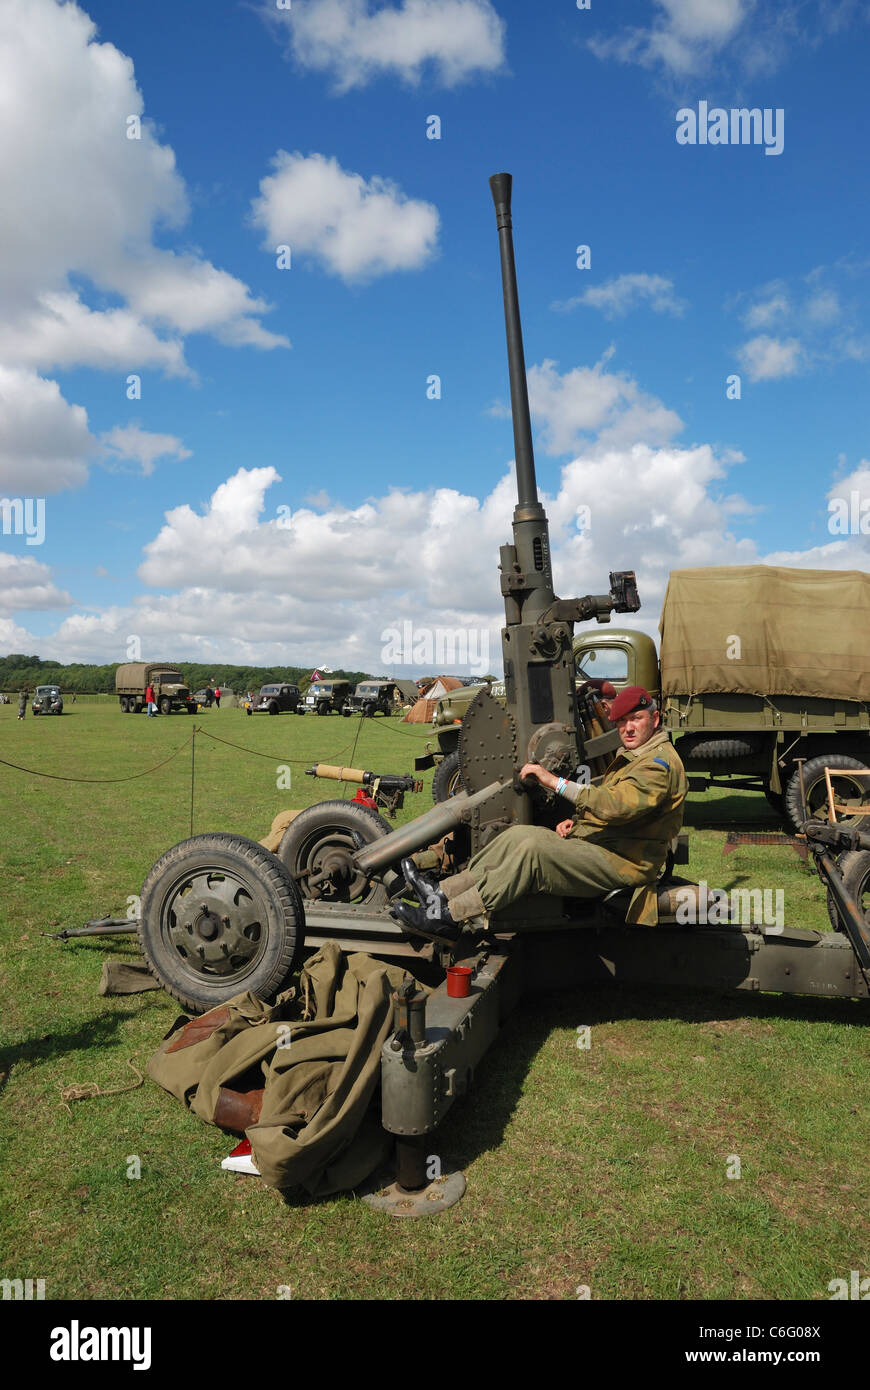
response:
<path id="1" fill-rule="evenodd" d="M 659 630 L 585 631 L 578 680 L 662 701 L 693 791 L 763 791 L 795 830 L 827 802 L 824 769 L 870 766 L 870 574 L 766 564 L 673 570 Z M 803 771 L 799 773 L 799 760 Z M 870 801 L 870 778 L 837 776 L 838 802 Z"/>

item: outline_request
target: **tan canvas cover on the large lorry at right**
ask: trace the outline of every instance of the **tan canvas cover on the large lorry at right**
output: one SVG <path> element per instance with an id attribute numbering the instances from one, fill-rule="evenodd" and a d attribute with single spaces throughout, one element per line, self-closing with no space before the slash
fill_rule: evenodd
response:
<path id="1" fill-rule="evenodd" d="M 659 631 L 663 695 L 870 701 L 870 574 L 860 570 L 671 570 Z"/>

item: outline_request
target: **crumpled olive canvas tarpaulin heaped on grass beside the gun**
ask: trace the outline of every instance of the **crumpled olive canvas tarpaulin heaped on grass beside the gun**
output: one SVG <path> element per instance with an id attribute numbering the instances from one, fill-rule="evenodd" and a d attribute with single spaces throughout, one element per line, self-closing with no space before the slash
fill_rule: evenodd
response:
<path id="1" fill-rule="evenodd" d="M 236 995 L 172 1030 L 147 1073 L 208 1125 L 245 1130 L 271 1187 L 343 1191 L 385 1156 L 370 1106 L 392 1031 L 391 994 L 403 979 L 399 966 L 345 956 L 327 941 L 306 962 L 299 991 L 274 1005 Z M 254 1123 L 227 1120 L 228 1091 L 256 1097 Z"/>

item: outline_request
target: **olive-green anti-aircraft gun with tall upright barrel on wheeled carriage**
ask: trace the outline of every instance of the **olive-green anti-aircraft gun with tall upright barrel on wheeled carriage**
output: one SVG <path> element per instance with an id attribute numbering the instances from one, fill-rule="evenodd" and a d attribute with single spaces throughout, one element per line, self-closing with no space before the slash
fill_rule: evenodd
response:
<path id="1" fill-rule="evenodd" d="M 513 824 L 555 826 L 564 815 L 552 794 L 518 781 L 536 762 L 571 777 L 618 746 L 616 730 L 585 739 L 574 689 L 573 627 L 639 607 L 631 571 L 610 575 L 610 592 L 560 599 L 553 592 L 548 521 L 538 499 L 513 254 L 510 174 L 489 181 L 499 229 L 507 359 L 517 467 L 513 542 L 500 549 L 504 599 L 504 706 L 488 691 L 473 701 L 460 733 L 464 790 L 393 830 L 377 810 L 327 801 L 300 812 L 278 853 L 239 835 L 207 834 L 170 849 L 143 890 L 139 940 L 164 987 L 202 1012 L 252 990 L 272 998 L 303 948 L 338 940 L 347 949 L 404 960 L 396 1029 L 382 1052 L 382 1125 L 396 1137 L 400 1201 L 427 1187 L 432 1131 L 461 1095 L 499 1020 L 521 990 L 581 981 L 777 990 L 867 998 L 867 973 L 849 940 L 752 923 L 684 926 L 674 888 L 662 885 L 660 924 L 625 924 L 630 894 L 607 902 L 535 895 L 495 915 L 485 937 L 466 933 L 453 965 L 471 972 L 464 998 L 448 994 L 443 949 L 409 938 L 389 916 L 407 891 L 407 855 L 456 872 Z M 670 924 L 668 924 L 670 919 Z M 702 915 L 702 922 L 705 917 Z M 441 955 L 439 955 L 441 952 Z M 435 988 L 417 987 L 425 979 Z M 438 984 L 438 980 L 442 983 Z M 463 1184 L 464 1186 L 464 1184 Z M 427 1193 L 422 1209 L 456 1200 Z M 403 1212 L 407 1213 L 407 1212 Z"/>

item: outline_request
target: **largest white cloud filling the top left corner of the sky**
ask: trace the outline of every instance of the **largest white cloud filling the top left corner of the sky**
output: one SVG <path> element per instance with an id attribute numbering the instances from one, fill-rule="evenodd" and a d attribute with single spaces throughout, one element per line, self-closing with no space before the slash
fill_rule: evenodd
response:
<path id="1" fill-rule="evenodd" d="M 157 245 L 189 215 L 185 182 L 132 61 L 78 6 L 3 0 L 0 122 L 0 360 L 182 374 L 179 334 L 286 343 L 242 281 Z M 88 303 L 107 292 L 122 303 Z"/>

